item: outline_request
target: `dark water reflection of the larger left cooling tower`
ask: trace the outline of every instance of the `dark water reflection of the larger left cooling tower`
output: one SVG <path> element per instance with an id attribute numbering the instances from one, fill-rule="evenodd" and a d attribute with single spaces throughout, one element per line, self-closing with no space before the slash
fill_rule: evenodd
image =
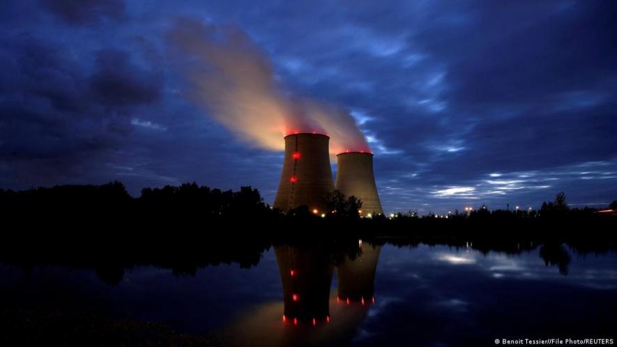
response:
<path id="1" fill-rule="evenodd" d="M 275 247 L 284 295 L 284 317 L 293 322 L 326 321 L 334 266 L 317 248 Z"/>

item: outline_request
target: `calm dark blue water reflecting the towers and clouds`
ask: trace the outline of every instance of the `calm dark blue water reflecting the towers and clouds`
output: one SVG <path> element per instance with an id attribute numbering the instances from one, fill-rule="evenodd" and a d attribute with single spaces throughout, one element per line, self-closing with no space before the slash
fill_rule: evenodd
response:
<path id="1" fill-rule="evenodd" d="M 614 253 L 570 253 L 560 268 L 546 265 L 538 249 L 512 255 L 366 242 L 361 248 L 358 259 L 338 267 L 319 249 L 277 247 L 250 269 L 218 265 L 178 277 L 133 268 L 115 286 L 93 270 L 0 265 L 0 303 L 163 322 L 235 346 L 616 337 Z"/>

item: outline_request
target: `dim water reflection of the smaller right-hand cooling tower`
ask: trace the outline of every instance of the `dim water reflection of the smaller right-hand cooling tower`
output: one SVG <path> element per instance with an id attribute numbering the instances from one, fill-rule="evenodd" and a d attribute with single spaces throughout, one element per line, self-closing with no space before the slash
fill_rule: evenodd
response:
<path id="1" fill-rule="evenodd" d="M 375 272 L 381 246 L 364 243 L 362 253 L 353 261 L 345 257 L 337 268 L 338 298 L 370 302 L 374 294 Z"/>

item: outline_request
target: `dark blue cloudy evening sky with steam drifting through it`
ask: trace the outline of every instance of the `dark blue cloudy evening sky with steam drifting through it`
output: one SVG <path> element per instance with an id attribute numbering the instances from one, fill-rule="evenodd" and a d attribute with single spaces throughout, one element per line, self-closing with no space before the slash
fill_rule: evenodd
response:
<path id="1" fill-rule="evenodd" d="M 616 15 L 588 0 L 1 1 L 0 187 L 195 181 L 272 203 L 289 129 L 279 145 L 260 125 L 317 109 L 353 117 L 388 213 L 537 208 L 561 190 L 606 205 Z M 210 68 L 191 50 L 208 37 L 225 53 Z"/>

